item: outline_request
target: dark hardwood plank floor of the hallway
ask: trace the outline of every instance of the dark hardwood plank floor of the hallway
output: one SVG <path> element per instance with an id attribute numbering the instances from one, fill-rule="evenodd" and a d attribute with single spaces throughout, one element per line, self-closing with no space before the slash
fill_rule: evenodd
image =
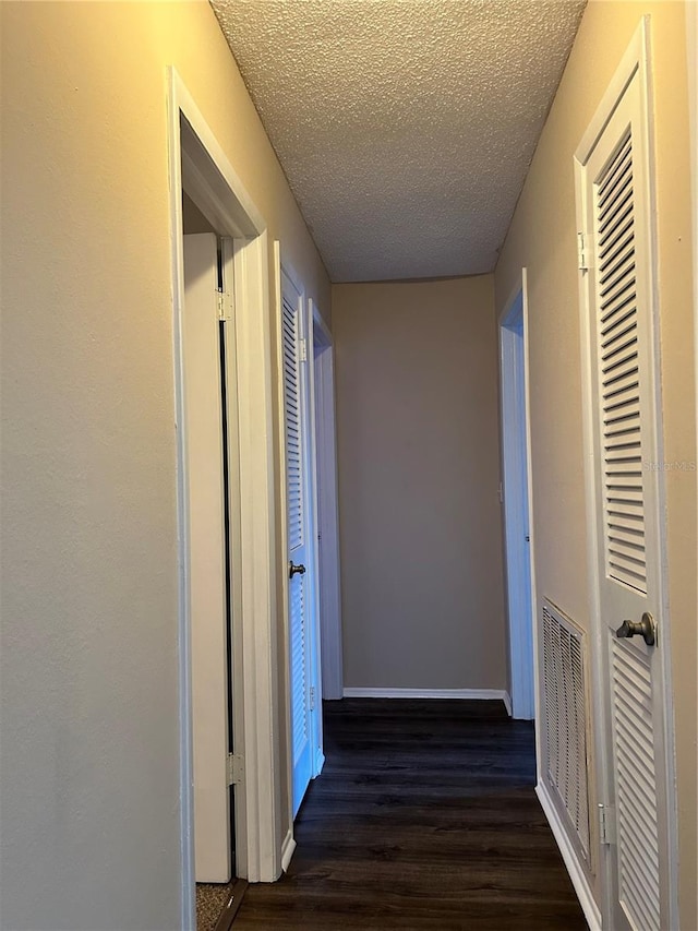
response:
<path id="1" fill-rule="evenodd" d="M 533 791 L 533 728 L 501 702 L 325 704 L 322 776 L 288 873 L 233 931 L 586 929 Z"/>

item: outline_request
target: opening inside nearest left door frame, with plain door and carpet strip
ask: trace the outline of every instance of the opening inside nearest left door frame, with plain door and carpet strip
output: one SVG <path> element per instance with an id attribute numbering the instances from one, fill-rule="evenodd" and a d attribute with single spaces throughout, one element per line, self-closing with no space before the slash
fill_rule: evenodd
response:
<path id="1" fill-rule="evenodd" d="M 227 329 L 233 323 L 233 246 L 197 213 L 185 189 L 182 207 L 194 868 L 202 929 L 212 926 L 217 906 L 222 910 L 220 899 L 232 892 L 236 876 L 230 492 L 237 486 L 237 442 L 227 348 Z"/>

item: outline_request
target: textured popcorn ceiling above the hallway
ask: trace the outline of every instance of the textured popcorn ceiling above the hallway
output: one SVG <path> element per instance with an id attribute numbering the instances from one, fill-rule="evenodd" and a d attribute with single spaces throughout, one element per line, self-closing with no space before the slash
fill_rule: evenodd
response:
<path id="1" fill-rule="evenodd" d="M 586 0 L 212 0 L 334 282 L 496 263 Z"/>

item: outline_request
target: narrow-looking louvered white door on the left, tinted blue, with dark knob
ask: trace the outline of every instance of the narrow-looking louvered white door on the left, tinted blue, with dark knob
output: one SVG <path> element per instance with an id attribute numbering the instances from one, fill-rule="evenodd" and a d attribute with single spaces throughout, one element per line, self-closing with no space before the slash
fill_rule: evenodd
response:
<path id="1" fill-rule="evenodd" d="M 286 417 L 286 476 L 289 562 L 289 640 L 291 685 L 291 752 L 293 817 L 313 775 L 311 721 L 311 628 L 309 571 L 312 552 L 308 539 L 306 345 L 303 298 L 281 271 L 281 329 L 284 344 L 284 399 Z"/>

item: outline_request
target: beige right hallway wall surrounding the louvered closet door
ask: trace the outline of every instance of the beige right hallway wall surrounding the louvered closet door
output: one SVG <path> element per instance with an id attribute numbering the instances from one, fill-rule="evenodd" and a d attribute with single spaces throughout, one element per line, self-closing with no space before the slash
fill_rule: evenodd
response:
<path id="1" fill-rule="evenodd" d="M 691 227 L 683 3 L 600 2 L 587 8 L 495 274 L 502 306 L 528 267 L 533 527 L 538 593 L 589 622 L 579 307 L 573 155 L 640 16 L 651 13 L 664 458 L 696 461 Z M 682 928 L 695 929 L 696 482 L 667 485 L 669 584 L 679 792 Z"/>

